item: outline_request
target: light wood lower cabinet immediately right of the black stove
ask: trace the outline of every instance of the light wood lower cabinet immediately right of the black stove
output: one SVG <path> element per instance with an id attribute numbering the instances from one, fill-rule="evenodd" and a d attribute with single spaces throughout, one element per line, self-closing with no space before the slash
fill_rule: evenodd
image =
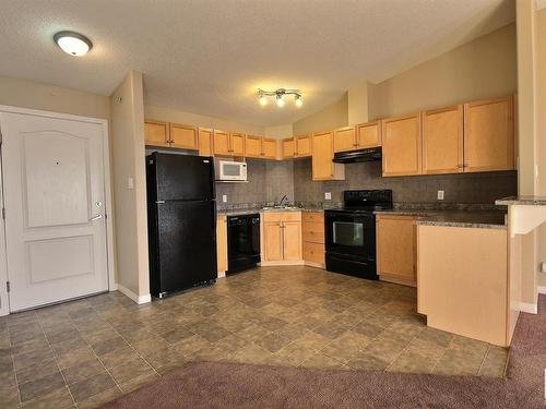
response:
<path id="1" fill-rule="evenodd" d="M 382 280 L 415 286 L 416 224 L 413 216 L 376 217 L 377 270 Z"/>

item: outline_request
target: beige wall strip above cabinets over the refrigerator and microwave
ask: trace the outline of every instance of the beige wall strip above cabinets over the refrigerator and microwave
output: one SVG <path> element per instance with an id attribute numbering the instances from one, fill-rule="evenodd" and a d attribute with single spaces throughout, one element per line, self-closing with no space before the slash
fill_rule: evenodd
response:
<path id="1" fill-rule="evenodd" d="M 248 123 L 233 122 L 221 118 L 207 117 L 199 113 L 181 111 L 175 108 L 144 106 L 144 117 L 156 121 L 177 122 L 193 127 L 215 128 L 225 131 L 251 133 L 263 135 L 264 128 Z"/>

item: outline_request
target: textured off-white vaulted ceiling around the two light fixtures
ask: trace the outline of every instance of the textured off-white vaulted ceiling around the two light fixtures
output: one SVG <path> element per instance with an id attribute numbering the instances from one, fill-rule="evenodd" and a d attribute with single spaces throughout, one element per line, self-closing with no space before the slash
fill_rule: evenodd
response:
<path id="1" fill-rule="evenodd" d="M 258 125 L 293 122 L 514 20 L 513 0 L 0 0 L 0 75 L 109 95 L 129 70 L 145 101 Z M 83 58 L 56 32 L 92 39 Z M 261 107 L 259 87 L 305 104 Z"/>

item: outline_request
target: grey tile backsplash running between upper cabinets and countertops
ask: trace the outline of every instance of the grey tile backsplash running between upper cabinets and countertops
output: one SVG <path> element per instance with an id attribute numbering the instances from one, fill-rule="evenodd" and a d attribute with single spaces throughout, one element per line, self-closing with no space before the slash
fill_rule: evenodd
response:
<path id="1" fill-rule="evenodd" d="M 515 171 L 382 178 L 381 163 L 372 161 L 345 165 L 345 180 L 313 182 L 310 158 L 248 159 L 247 164 L 247 183 L 216 183 L 219 209 L 271 205 L 285 194 L 290 203 L 332 207 L 343 202 L 344 190 L 352 189 L 392 189 L 395 203 L 492 204 L 518 193 Z M 439 190 L 444 191 L 441 202 L 437 200 Z M 327 192 L 330 201 L 324 200 Z M 224 194 L 226 203 L 222 202 Z"/>

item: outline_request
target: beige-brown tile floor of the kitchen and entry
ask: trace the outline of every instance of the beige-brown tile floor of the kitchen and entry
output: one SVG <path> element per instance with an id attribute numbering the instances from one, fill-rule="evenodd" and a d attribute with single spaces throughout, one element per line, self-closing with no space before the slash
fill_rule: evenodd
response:
<path id="1" fill-rule="evenodd" d="M 91 408 L 194 360 L 502 376 L 507 350 L 431 329 L 412 288 L 268 267 L 136 305 L 120 292 L 0 320 L 0 407 Z"/>

